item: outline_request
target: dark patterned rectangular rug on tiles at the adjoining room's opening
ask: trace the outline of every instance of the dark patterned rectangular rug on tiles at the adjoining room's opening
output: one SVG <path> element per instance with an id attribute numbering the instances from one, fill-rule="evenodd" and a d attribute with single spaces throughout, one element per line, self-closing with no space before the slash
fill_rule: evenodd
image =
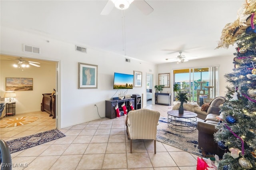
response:
<path id="1" fill-rule="evenodd" d="M 66 135 L 60 132 L 58 129 L 53 129 L 23 138 L 10 140 L 7 141 L 7 144 L 10 148 L 10 153 L 14 153 L 46 142 L 50 142 L 52 140 L 56 140 L 58 138 L 62 138 L 64 136 Z"/>

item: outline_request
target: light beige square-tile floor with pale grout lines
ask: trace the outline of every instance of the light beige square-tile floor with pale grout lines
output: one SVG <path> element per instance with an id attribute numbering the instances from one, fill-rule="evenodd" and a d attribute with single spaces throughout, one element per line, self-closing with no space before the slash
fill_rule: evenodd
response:
<path id="1" fill-rule="evenodd" d="M 168 106 L 148 105 L 147 109 L 167 116 Z M 33 115 L 38 121 L 19 127 L 0 128 L 1 138 L 8 141 L 55 128 L 55 119 L 46 112 Z M 14 117 L 20 117 L 21 114 Z M 9 119 L 6 117 L 4 119 Z M 196 170 L 197 156 L 162 142 L 134 140 L 130 153 L 130 140 L 126 135 L 125 118 L 97 119 L 59 129 L 66 136 L 39 146 L 11 154 L 12 163 L 23 167 L 14 170 Z M 2 120 L 2 119 L 1 119 Z M 27 166 L 27 167 L 25 167 Z"/>

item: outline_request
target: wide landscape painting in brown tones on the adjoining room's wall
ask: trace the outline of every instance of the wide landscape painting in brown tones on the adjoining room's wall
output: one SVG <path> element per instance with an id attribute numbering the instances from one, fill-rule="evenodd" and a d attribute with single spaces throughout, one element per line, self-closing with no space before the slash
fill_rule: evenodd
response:
<path id="1" fill-rule="evenodd" d="M 33 90 L 33 78 L 6 77 L 6 91 Z"/>

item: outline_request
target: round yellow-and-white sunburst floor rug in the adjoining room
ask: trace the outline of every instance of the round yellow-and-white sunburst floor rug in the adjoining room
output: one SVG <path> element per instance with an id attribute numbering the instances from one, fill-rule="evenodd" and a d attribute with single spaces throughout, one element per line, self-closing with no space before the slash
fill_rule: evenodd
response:
<path id="1" fill-rule="evenodd" d="M 26 125 L 38 120 L 38 117 L 27 116 L 27 117 L 16 117 L 13 119 L 4 119 L 0 121 L 0 128 L 16 127 L 20 125 Z"/>

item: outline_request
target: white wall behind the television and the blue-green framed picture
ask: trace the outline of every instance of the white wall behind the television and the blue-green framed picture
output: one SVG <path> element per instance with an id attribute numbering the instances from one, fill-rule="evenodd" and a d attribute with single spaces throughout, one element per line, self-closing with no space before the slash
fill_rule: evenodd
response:
<path id="1" fill-rule="evenodd" d="M 114 72 L 133 74 L 134 70 L 142 71 L 142 87 L 134 87 L 126 96 L 143 93 L 144 103 L 146 103 L 146 73 L 157 75 L 156 66 L 153 64 L 134 59 L 127 63 L 125 56 L 96 50 L 85 44 L 63 42 L 48 35 L 28 33 L 24 30 L 1 26 L 0 43 L 1 54 L 58 61 L 60 67 L 57 103 L 60 128 L 98 119 L 94 104 L 98 106 L 100 116 L 105 116 L 105 100 L 109 100 L 116 93 L 113 89 Z M 40 47 L 41 54 L 24 53 L 23 44 Z M 75 45 L 87 47 L 87 53 L 75 51 Z M 78 89 L 78 62 L 98 65 L 98 89 Z M 150 69 L 152 72 L 149 71 Z M 0 89 L 4 89 L 2 83 L 0 85 Z M 116 96 L 117 94 L 114 97 Z"/>

